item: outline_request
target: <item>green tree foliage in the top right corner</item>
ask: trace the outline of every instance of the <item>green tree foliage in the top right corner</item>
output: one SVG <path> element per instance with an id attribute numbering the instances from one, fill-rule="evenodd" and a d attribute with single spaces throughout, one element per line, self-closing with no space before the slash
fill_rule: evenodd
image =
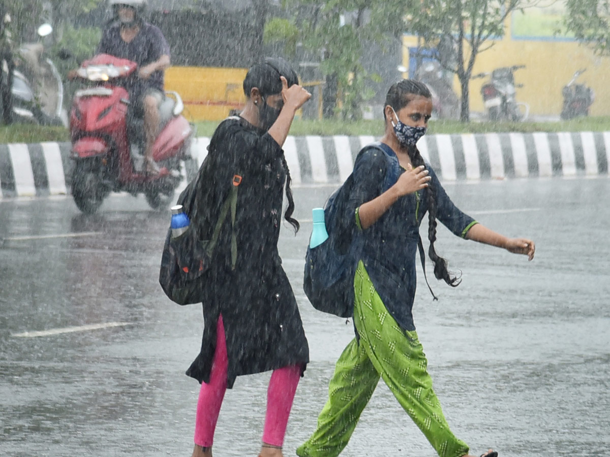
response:
<path id="1" fill-rule="evenodd" d="M 564 23 L 576 40 L 590 44 L 599 54 L 610 54 L 610 1 L 567 0 Z"/>

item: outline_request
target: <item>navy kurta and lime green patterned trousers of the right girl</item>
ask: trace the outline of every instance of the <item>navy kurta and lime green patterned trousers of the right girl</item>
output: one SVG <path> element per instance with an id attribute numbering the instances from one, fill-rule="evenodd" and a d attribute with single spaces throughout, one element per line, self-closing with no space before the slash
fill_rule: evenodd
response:
<path id="1" fill-rule="evenodd" d="M 389 148 L 388 148 L 389 149 Z M 393 154 L 393 151 L 389 149 Z M 384 152 L 368 148 L 354 164 L 354 188 L 343 216 L 364 237 L 354 275 L 356 338 L 337 361 L 329 398 L 317 429 L 296 453 L 300 457 L 336 457 L 347 445 L 362 410 L 381 377 L 441 457 L 468 453 L 447 424 L 432 389 L 428 361 L 413 323 L 415 253 L 419 226 L 428 211 L 428 190 L 397 200 L 373 225 L 362 230 L 358 208 L 384 188 L 386 173 L 400 176 L 398 161 L 390 165 Z M 389 169 L 396 166 L 399 169 Z M 437 219 L 456 235 L 476 224 L 451 202 L 434 171 L 426 164 L 436 193 Z M 393 184 L 393 183 L 392 183 Z M 355 215 L 355 217 L 354 217 Z"/>

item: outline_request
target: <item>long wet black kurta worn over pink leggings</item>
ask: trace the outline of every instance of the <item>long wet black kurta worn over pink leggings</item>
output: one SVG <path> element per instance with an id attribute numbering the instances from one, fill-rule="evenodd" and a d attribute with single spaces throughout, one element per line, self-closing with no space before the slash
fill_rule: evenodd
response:
<path id="1" fill-rule="evenodd" d="M 242 177 L 234 227 L 237 263 L 232 270 L 228 218 L 214 256 L 213 279 L 202 297 L 201 352 L 187 370 L 200 383 L 209 381 L 219 314 L 229 359 L 228 388 L 239 375 L 294 364 L 304 370 L 309 362 L 301 316 L 278 253 L 286 178 L 283 154 L 267 132 L 233 117 L 214 132 L 206 158 L 210 163 L 199 170 L 198 187 L 193 189 L 199 210 L 191 223 L 197 225 L 201 239 L 209 238 L 234 175 Z"/>

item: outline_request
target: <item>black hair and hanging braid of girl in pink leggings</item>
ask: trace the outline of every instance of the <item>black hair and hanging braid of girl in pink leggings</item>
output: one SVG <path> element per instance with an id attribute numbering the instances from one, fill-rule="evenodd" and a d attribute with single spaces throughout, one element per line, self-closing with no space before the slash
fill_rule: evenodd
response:
<path id="1" fill-rule="evenodd" d="M 282 91 L 282 81 L 279 79 L 281 76 L 285 77 L 288 82 L 288 87 L 297 84 L 299 81 L 292 66 L 283 58 L 267 57 L 263 62 L 256 63 L 248 70 L 248 73 L 243 80 L 243 92 L 249 97 L 250 91 L 256 87 L 262 97 L 279 94 Z M 284 168 L 284 172 L 286 173 L 285 193 L 286 199 L 288 200 L 288 207 L 284 213 L 284 219 L 292 225 L 296 233 L 299 231 L 301 225 L 299 224 L 299 221 L 292 217 L 292 213 L 295 211 L 295 202 L 292 197 L 292 190 L 290 189 L 292 178 L 290 177 L 290 170 L 283 154 L 282 168 Z"/>

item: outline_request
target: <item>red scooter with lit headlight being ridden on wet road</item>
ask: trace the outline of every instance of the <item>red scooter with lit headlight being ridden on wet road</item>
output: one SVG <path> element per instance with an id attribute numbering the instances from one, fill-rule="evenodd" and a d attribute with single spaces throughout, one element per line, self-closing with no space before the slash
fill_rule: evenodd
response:
<path id="1" fill-rule="evenodd" d="M 120 82 L 137 77 L 137 64 L 108 54 L 82 63 L 77 78 L 91 82 L 74 95 L 70 113 L 72 195 L 84 213 L 94 213 L 111 191 L 143 193 L 154 209 L 167 207 L 182 180 L 183 163 L 192 161 L 191 124 L 181 116 L 182 99 L 167 92 L 159 108 L 154 160 L 159 174 L 146 174 L 143 119 L 129 109 L 129 94 Z"/>

